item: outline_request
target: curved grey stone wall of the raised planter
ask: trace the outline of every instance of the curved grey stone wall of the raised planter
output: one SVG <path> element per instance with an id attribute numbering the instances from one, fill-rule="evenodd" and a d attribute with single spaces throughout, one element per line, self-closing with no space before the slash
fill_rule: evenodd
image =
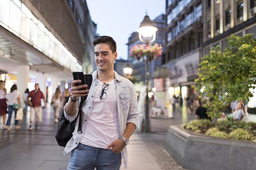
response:
<path id="1" fill-rule="evenodd" d="M 256 143 L 170 126 L 165 150 L 187 170 L 256 170 Z"/>

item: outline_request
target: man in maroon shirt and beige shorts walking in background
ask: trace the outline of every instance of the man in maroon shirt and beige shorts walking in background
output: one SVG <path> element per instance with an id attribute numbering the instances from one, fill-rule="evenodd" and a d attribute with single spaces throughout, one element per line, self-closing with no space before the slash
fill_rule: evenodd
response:
<path id="1" fill-rule="evenodd" d="M 31 99 L 29 99 L 31 98 Z M 34 117 L 36 115 L 36 129 L 39 129 L 38 122 L 42 121 L 42 107 L 41 107 L 41 99 L 45 102 L 45 107 L 47 106 L 45 96 L 42 91 L 39 89 L 39 84 L 35 84 L 35 90 L 29 92 L 27 95 L 27 101 L 30 106 L 30 125 L 29 130 L 32 130 L 32 123 L 34 121 Z"/>

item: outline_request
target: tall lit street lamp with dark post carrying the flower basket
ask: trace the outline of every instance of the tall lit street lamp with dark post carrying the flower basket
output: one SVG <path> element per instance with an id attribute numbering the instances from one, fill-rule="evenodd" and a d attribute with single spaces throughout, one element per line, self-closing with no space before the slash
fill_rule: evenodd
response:
<path id="1" fill-rule="evenodd" d="M 150 20 L 149 16 L 146 14 L 144 17 L 144 20 L 141 22 L 139 29 L 137 29 L 137 32 L 139 33 L 139 40 L 141 42 L 146 43 L 146 45 L 149 45 L 149 43 L 155 41 L 155 32 L 157 31 L 157 28 L 155 27 L 155 23 Z M 144 39 L 143 39 L 144 37 Z M 151 39 L 151 40 L 150 40 Z M 143 131 L 144 132 L 151 132 L 151 126 L 150 126 L 150 119 L 149 119 L 149 98 L 148 98 L 148 77 L 149 77 L 149 56 L 146 56 L 146 109 L 145 109 L 145 120 L 143 124 Z"/>

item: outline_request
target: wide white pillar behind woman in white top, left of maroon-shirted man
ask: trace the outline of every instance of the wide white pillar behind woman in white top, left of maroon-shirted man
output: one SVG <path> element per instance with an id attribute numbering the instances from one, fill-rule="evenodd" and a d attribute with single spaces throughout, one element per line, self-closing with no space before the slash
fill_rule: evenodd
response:
<path id="1" fill-rule="evenodd" d="M 24 108 L 23 93 L 28 88 L 29 83 L 29 66 L 17 67 L 17 89 L 20 92 L 20 104 Z"/>

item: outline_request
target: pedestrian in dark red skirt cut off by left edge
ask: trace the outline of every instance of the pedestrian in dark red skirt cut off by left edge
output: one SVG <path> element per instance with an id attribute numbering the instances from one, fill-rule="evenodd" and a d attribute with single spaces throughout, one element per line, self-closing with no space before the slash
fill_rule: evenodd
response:
<path id="1" fill-rule="evenodd" d="M 6 103 L 6 88 L 4 88 L 4 81 L 0 80 L 0 116 L 3 116 L 3 126 L 2 129 L 7 129 L 5 125 L 6 114 L 7 112 L 7 103 Z"/>

